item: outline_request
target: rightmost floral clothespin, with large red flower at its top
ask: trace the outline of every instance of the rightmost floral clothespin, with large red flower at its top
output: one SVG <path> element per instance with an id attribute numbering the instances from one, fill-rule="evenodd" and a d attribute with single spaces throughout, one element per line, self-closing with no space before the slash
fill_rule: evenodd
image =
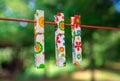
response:
<path id="1" fill-rule="evenodd" d="M 80 16 L 75 15 L 74 17 L 71 17 L 71 24 L 73 64 L 76 66 L 80 66 L 82 64 Z"/>

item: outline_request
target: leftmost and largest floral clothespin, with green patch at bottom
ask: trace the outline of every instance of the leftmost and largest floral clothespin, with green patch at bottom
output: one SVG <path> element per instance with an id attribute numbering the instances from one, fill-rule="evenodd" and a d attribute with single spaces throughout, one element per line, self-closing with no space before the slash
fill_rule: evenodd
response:
<path id="1" fill-rule="evenodd" d="M 34 57 L 35 66 L 37 68 L 45 67 L 45 52 L 44 52 L 44 11 L 36 10 L 35 16 L 35 26 L 34 26 Z"/>

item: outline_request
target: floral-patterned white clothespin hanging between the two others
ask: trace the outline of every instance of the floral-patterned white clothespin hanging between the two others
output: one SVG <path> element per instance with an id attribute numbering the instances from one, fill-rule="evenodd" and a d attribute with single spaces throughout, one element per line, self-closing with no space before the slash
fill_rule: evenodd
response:
<path id="1" fill-rule="evenodd" d="M 66 65 L 65 54 L 65 32 L 64 32 L 64 14 L 58 13 L 55 17 L 55 51 L 56 51 L 56 65 Z"/>

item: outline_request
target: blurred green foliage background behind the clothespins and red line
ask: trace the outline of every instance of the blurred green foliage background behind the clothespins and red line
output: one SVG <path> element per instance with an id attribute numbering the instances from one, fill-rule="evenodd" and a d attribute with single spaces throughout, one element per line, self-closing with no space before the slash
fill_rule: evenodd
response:
<path id="1" fill-rule="evenodd" d="M 86 25 L 120 28 L 120 0 L 0 0 L 0 17 L 45 21 L 63 12 L 65 23 L 74 14 Z M 34 67 L 34 24 L 0 21 L 0 81 L 120 80 L 120 31 L 82 28 L 83 64 L 72 64 L 71 29 L 65 28 L 66 67 L 56 67 L 54 26 L 45 25 L 46 68 Z"/>

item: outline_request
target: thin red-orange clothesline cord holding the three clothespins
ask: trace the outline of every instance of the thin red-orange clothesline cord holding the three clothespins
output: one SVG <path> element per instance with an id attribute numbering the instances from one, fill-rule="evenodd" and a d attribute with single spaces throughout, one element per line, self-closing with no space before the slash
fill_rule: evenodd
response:
<path id="1" fill-rule="evenodd" d="M 30 22 L 30 23 L 35 23 L 35 20 L 24 20 L 24 19 L 15 19 L 15 18 L 0 18 L 0 20 L 6 20 L 6 21 L 17 21 L 17 22 Z M 45 24 L 51 24 L 51 25 L 56 25 L 55 22 L 44 22 Z M 66 24 L 65 26 L 73 26 L 72 24 Z M 88 25 L 82 25 L 81 28 L 97 28 L 97 29 L 105 29 L 105 30 L 120 30 L 120 28 L 115 28 L 115 27 L 105 27 L 105 26 L 88 26 Z"/>

